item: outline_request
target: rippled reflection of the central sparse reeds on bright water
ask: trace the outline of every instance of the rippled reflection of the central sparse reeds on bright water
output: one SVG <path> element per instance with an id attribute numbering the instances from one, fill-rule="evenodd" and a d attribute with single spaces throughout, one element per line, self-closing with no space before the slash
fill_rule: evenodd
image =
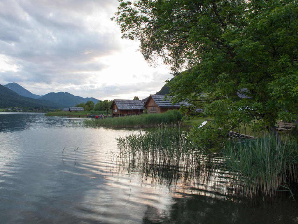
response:
<path id="1" fill-rule="evenodd" d="M 207 157 L 194 151 L 192 154 L 165 155 L 142 152 L 122 155 L 119 169 L 129 169 L 142 182 L 166 185 L 174 192 L 195 193 L 209 197 L 225 198 L 233 195 L 227 188 L 228 172 L 218 157 Z M 118 172 L 120 172 L 118 170 Z"/>

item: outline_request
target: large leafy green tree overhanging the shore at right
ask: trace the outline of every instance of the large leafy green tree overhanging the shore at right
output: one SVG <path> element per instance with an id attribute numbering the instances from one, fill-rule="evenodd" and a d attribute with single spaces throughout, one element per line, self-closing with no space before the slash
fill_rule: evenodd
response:
<path id="1" fill-rule="evenodd" d="M 217 134 L 297 119 L 297 0 L 118 1 L 123 38 L 171 66 L 174 101 L 204 108 Z"/>

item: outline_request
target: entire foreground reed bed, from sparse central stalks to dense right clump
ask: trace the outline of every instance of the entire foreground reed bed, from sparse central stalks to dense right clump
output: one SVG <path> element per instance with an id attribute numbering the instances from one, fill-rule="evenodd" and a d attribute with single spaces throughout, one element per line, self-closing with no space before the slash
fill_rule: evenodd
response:
<path id="1" fill-rule="evenodd" d="M 203 162 L 209 171 L 220 171 L 217 184 L 229 193 L 273 197 L 288 191 L 294 198 L 291 189 L 298 183 L 297 139 L 267 135 L 242 143 L 226 141 L 221 152 L 212 154 L 197 148 L 187 134 L 181 127 L 159 127 L 116 139 L 121 156 L 131 161 L 141 159 L 170 169 L 173 164 L 190 163 L 193 168 Z"/>

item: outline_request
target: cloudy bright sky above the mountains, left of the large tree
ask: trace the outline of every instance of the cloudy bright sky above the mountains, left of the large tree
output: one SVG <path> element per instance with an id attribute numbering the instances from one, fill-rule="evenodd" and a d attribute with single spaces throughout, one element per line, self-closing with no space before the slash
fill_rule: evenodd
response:
<path id="1" fill-rule="evenodd" d="M 147 64 L 139 42 L 121 39 L 117 0 L 1 0 L 0 84 L 33 94 L 144 99 L 173 76 Z"/>

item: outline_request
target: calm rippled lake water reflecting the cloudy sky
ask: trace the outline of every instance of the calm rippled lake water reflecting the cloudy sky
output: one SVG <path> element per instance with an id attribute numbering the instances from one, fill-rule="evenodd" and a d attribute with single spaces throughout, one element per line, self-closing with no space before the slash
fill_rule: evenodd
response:
<path id="1" fill-rule="evenodd" d="M 120 156 L 115 137 L 142 130 L 82 120 L 0 113 L 0 223 L 298 223 L 288 192 L 237 197 L 195 157 Z"/>

